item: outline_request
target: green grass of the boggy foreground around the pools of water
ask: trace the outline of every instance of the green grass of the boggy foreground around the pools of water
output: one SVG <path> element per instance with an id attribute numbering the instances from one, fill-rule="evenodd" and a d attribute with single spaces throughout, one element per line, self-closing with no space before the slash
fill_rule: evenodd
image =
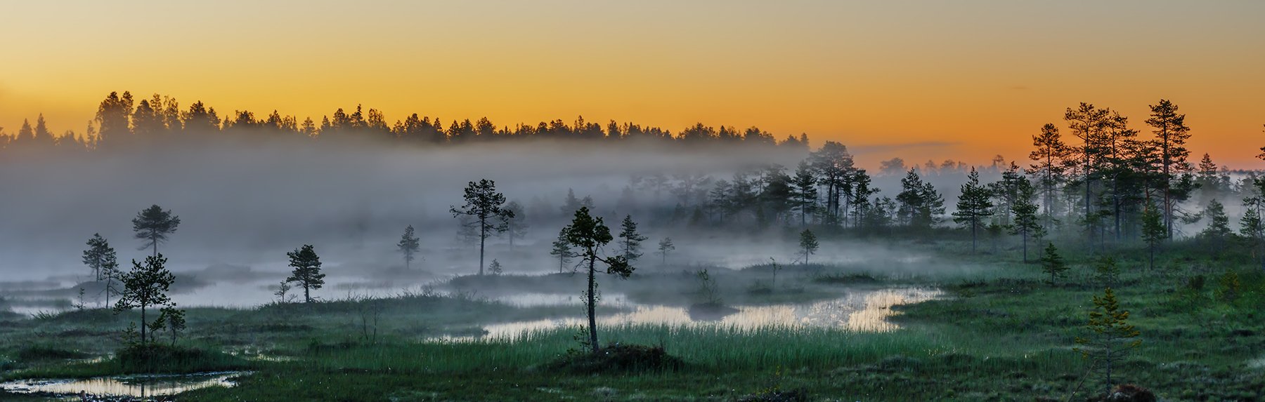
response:
<path id="1" fill-rule="evenodd" d="M 182 394 L 181 401 L 737 401 L 779 389 L 803 391 L 810 401 L 1064 401 L 1078 387 L 1077 401 L 1084 401 L 1101 391 L 1098 377 L 1085 374 L 1087 362 L 1073 350 L 1074 338 L 1085 335 L 1090 298 L 1104 287 L 1094 278 L 1093 255 L 1068 247 L 1069 277 L 1050 284 L 1039 265 L 1017 262 L 1013 244 L 996 254 L 964 254 L 961 244 L 904 244 L 936 250 L 917 263 L 788 268 L 778 273 L 777 291 L 754 295 L 753 283 L 772 274 L 767 265 L 715 273 L 721 296 L 730 303 L 812 301 L 837 297 L 855 286 L 934 286 L 945 292 L 940 300 L 894 307 L 899 315 L 892 320 L 902 329 L 892 332 L 743 330 L 719 324 L 600 329 L 602 344 L 663 346 L 683 362 L 677 370 L 574 373 L 552 368 L 569 350 L 582 348 L 577 329 L 530 331 L 517 341 L 424 341 L 492 322 L 574 316 L 579 310 L 517 308 L 468 296 L 434 295 L 249 310 L 191 308 L 192 336 L 181 344 L 209 354 L 167 369 L 223 368 L 218 364 L 228 362 L 256 372 L 235 388 L 199 389 Z M 990 250 L 987 243 L 980 249 Z M 1200 253 L 1197 245 L 1179 243 L 1160 255 L 1155 269 L 1145 268 L 1140 250 L 1112 253 L 1122 271 L 1114 286 L 1117 296 L 1142 339 L 1118 367 L 1117 378 L 1151 388 L 1164 401 L 1260 399 L 1265 394 L 1265 272 L 1250 258 Z M 1235 292 L 1227 292 L 1227 272 L 1238 279 Z M 663 281 L 649 281 L 673 276 L 681 282 L 655 287 Z M 635 278 L 602 286 L 669 303 L 689 303 L 694 296 L 694 283 L 679 273 Z M 568 276 L 455 282 L 481 292 L 578 288 Z M 362 319 L 373 308 L 381 312 L 381 324 L 378 335 L 369 338 Z M 111 365 L 118 359 L 66 363 L 14 356 L 20 345 L 49 336 L 57 336 L 58 350 L 108 354 L 118 349 L 114 338 L 133 319 L 75 311 L 0 326 L 0 356 L 13 362 L 5 375 L 126 372 Z M 211 354 L 214 350 L 238 356 Z M 247 359 L 258 353 L 287 359 Z"/>

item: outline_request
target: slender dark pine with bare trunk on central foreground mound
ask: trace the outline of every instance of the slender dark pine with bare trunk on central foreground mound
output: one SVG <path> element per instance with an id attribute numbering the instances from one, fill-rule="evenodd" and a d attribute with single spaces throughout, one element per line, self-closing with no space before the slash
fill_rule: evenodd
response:
<path id="1" fill-rule="evenodd" d="M 576 217 L 571 225 L 563 228 L 567 243 L 579 249 L 581 263 L 588 265 L 588 291 L 584 292 L 584 303 L 588 307 L 588 344 L 593 353 L 598 353 L 601 346 L 597 343 L 597 263 L 605 263 L 607 274 L 617 274 L 627 278 L 632 274 L 632 265 L 622 255 L 605 258 L 598 255 L 603 245 L 611 243 L 610 228 L 602 224 L 601 217 L 588 214 L 588 207 L 576 211 Z"/>

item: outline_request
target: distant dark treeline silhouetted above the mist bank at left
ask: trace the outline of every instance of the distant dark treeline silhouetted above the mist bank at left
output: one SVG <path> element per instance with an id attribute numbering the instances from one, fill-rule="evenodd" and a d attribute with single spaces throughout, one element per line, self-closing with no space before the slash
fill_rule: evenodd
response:
<path id="1" fill-rule="evenodd" d="M 53 134 L 44 116 L 23 121 L 16 133 L 0 128 L 0 148 L 58 148 L 97 150 L 119 147 L 128 143 L 143 143 L 159 139 L 195 139 L 195 137 L 221 137 L 223 134 L 272 135 L 273 138 L 310 139 L 383 139 L 412 144 L 457 144 L 488 140 L 521 139 L 592 139 L 624 140 L 645 139 L 687 144 L 730 143 L 753 147 L 786 147 L 808 149 L 808 135 L 787 135 L 781 142 L 769 131 L 756 126 L 736 129 L 720 125 L 708 126 L 702 123 L 673 133 L 658 126 L 643 126 L 635 123 L 610 123 L 602 125 L 586 121 L 578 116 L 568 124 L 562 119 L 540 121 L 535 125 L 516 124 L 497 126 L 487 118 L 476 121 L 454 119 L 444 124 L 440 118 L 411 114 L 402 120 L 388 123 L 377 109 L 363 110 L 357 105 L 354 111 L 338 109 L 333 115 L 321 116 L 320 121 L 306 118 L 282 116 L 276 110 L 263 116 L 248 110 L 234 110 L 220 116 L 213 106 L 196 101 L 181 107 L 175 97 L 154 94 L 151 99 L 137 101 L 130 92 L 110 92 L 96 111 L 96 118 L 89 121 L 82 133 L 67 130 Z"/>

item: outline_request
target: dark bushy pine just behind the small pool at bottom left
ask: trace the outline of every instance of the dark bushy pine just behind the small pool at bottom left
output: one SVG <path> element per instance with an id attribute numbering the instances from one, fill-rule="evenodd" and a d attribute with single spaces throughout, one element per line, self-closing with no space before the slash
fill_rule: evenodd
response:
<path id="1" fill-rule="evenodd" d="M 145 321 L 145 314 L 149 307 L 171 303 L 167 291 L 171 288 L 171 283 L 176 281 L 176 276 L 171 271 L 167 271 L 166 264 L 167 259 L 162 254 L 145 257 L 144 265 L 133 259 L 132 271 L 124 273 L 121 277 L 123 295 L 114 305 L 114 314 L 140 308 L 139 326 L 142 344 L 149 341 L 147 329 L 151 322 Z"/>

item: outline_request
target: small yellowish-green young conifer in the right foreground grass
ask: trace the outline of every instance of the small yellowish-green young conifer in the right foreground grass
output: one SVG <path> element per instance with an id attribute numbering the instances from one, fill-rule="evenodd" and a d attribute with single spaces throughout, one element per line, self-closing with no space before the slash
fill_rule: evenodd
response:
<path id="1" fill-rule="evenodd" d="M 1142 341 L 1136 339 L 1140 334 L 1137 329 L 1128 324 L 1128 310 L 1120 307 L 1120 301 L 1109 287 L 1103 291 L 1103 296 L 1094 296 L 1093 301 L 1094 310 L 1089 311 L 1089 324 L 1085 325 L 1089 336 L 1078 336 L 1077 344 L 1080 346 L 1075 350 L 1085 359 L 1103 365 L 1104 383 L 1109 391 L 1113 365 Z"/>

